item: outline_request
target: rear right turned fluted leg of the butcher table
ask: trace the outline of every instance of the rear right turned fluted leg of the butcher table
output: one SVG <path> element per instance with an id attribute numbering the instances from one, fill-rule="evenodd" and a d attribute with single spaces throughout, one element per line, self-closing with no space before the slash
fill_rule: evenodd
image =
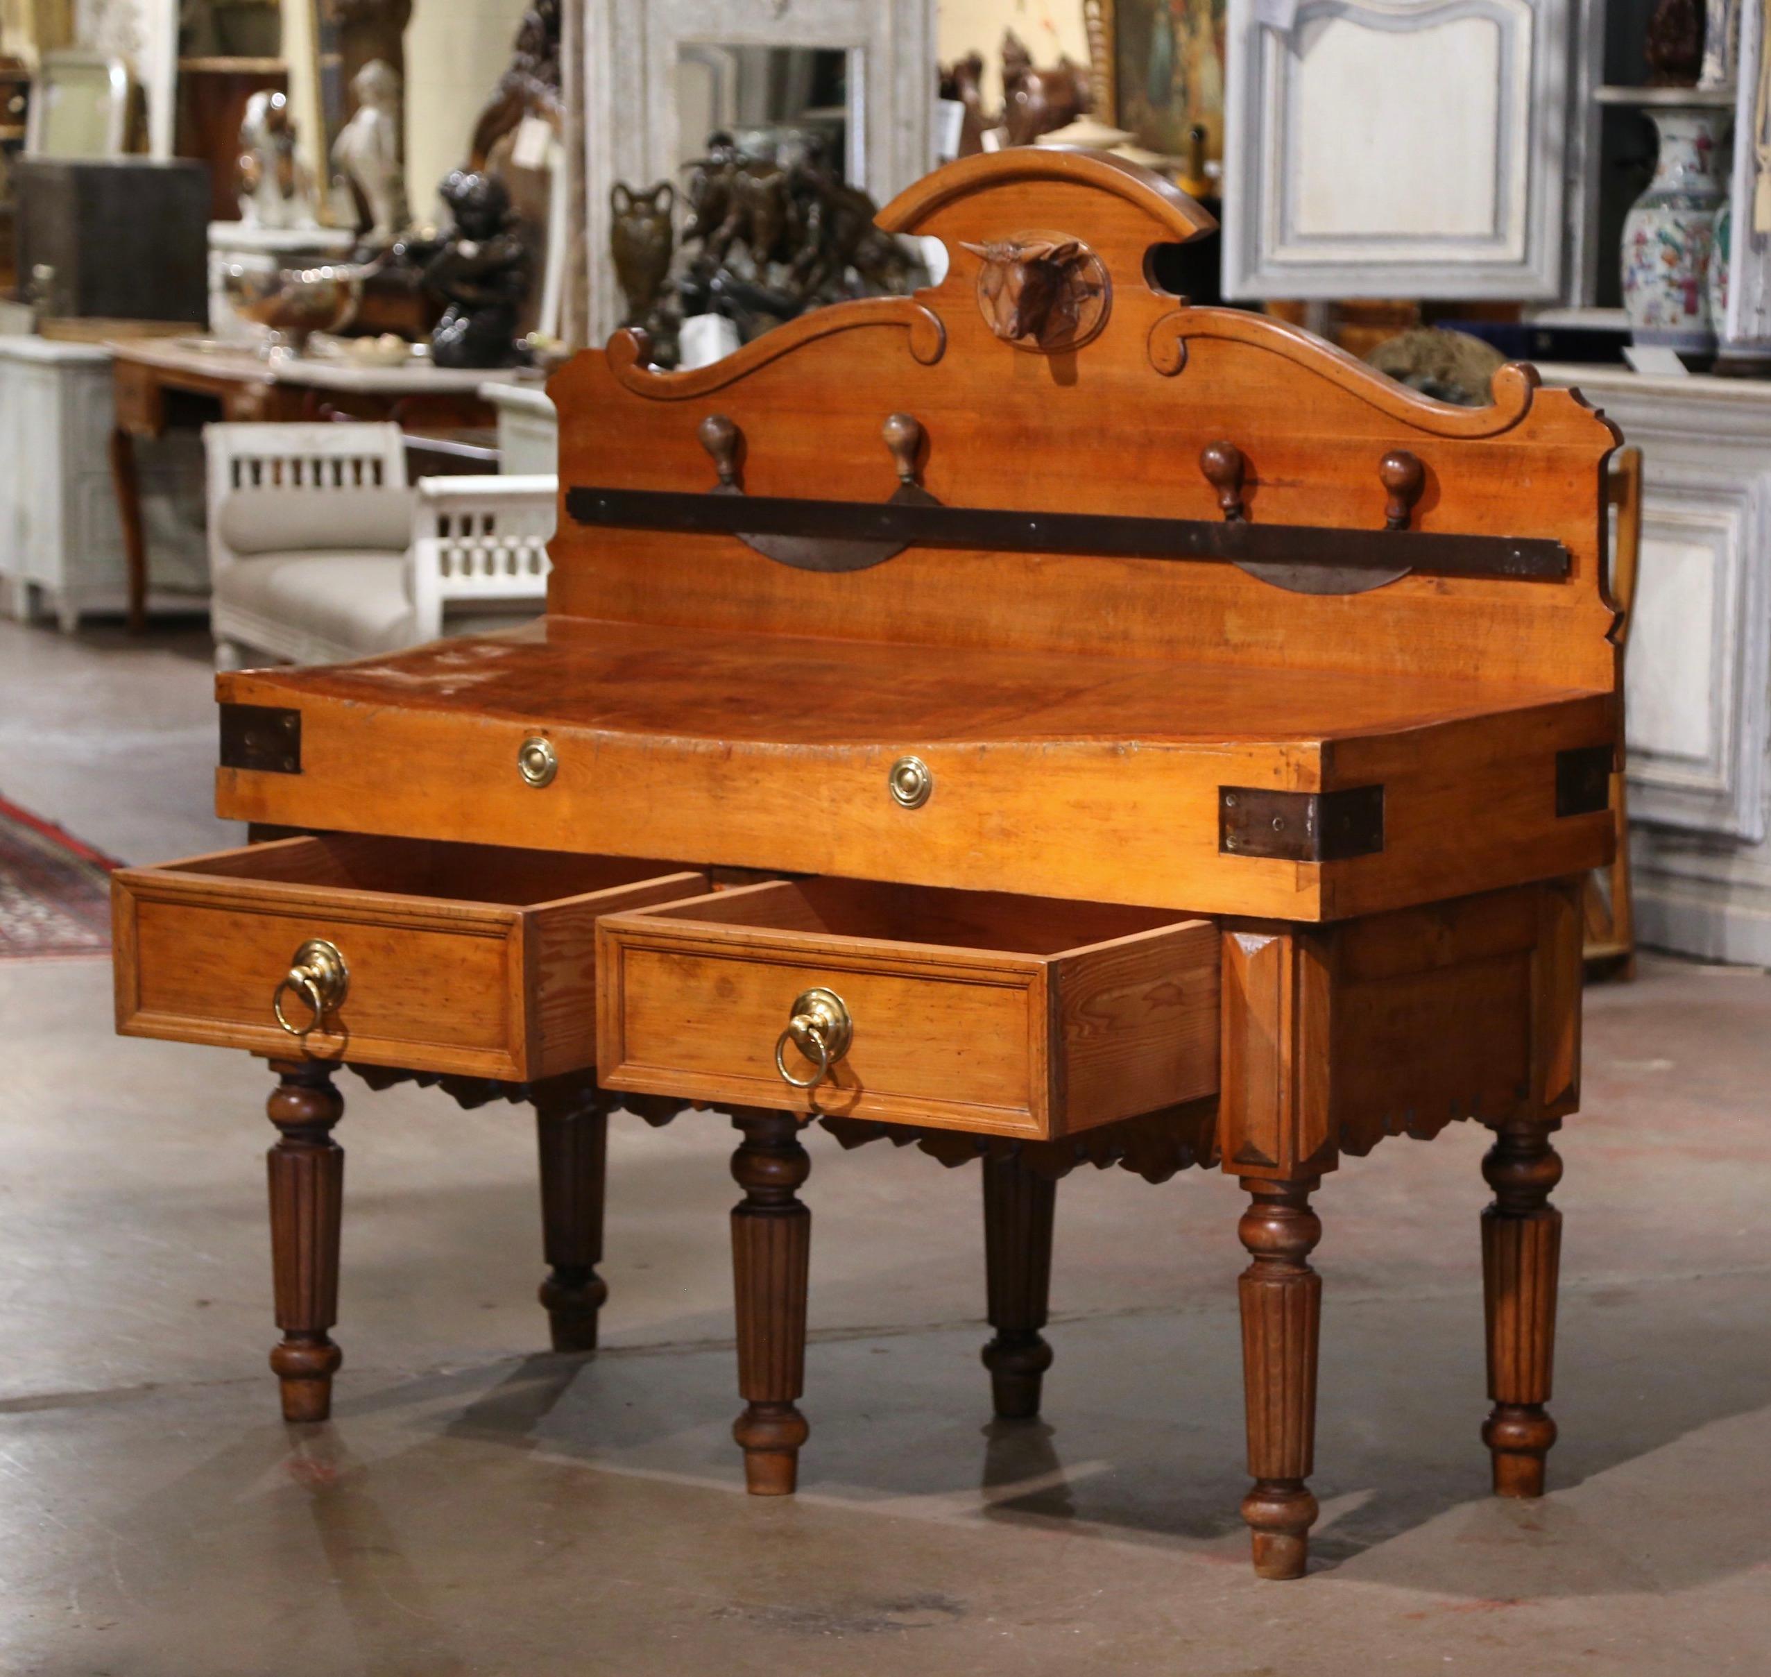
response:
<path id="1" fill-rule="evenodd" d="M 1562 1160 L 1550 1124 L 1495 1130 L 1482 1160 L 1495 1202 L 1482 1213 L 1482 1298 L 1488 1309 L 1488 1395 L 1495 1408 L 1482 1443 L 1495 1457 L 1496 1496 L 1543 1496 L 1555 1422 L 1544 1410 L 1555 1360 L 1555 1289 L 1562 1213 L 1550 1192 Z"/>

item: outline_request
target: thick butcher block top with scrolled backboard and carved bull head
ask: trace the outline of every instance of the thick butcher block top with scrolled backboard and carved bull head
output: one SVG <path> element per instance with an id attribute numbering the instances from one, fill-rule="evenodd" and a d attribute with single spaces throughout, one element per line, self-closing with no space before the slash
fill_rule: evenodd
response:
<path id="1" fill-rule="evenodd" d="M 220 813 L 1293 921 L 1608 859 L 1615 436 L 1578 397 L 1507 368 L 1449 407 L 1188 308 L 1144 257 L 1204 213 L 1086 152 L 880 223 L 942 283 L 563 368 L 549 614 L 220 676 Z M 1075 319 L 1004 338 L 1054 273 Z M 910 503 L 909 540 L 762 528 L 804 503 Z"/>

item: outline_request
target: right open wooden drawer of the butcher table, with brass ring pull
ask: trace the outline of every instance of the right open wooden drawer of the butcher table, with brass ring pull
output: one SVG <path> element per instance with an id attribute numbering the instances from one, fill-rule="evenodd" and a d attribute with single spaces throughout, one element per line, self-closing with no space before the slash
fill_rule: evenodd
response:
<path id="1" fill-rule="evenodd" d="M 1218 931 L 1172 910 L 809 878 L 597 947 L 611 1089 L 1027 1137 L 1217 1091 Z"/>

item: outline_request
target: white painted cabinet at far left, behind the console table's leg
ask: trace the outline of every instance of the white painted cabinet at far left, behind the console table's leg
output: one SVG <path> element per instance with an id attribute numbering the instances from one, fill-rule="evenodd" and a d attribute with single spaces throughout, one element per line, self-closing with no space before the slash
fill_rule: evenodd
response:
<path id="1" fill-rule="evenodd" d="M 0 581 L 12 616 L 51 611 L 73 632 L 128 604 L 110 476 L 112 368 L 94 344 L 0 336 Z M 202 439 L 175 430 L 136 448 L 149 547 L 149 609 L 202 609 Z"/>

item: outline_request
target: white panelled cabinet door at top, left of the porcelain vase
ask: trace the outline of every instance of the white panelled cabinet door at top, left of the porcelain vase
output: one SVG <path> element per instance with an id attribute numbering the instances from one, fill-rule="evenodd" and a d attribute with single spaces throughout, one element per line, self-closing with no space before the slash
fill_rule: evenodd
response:
<path id="1" fill-rule="evenodd" d="M 1576 0 L 1231 0 L 1233 298 L 1562 294 Z"/>

